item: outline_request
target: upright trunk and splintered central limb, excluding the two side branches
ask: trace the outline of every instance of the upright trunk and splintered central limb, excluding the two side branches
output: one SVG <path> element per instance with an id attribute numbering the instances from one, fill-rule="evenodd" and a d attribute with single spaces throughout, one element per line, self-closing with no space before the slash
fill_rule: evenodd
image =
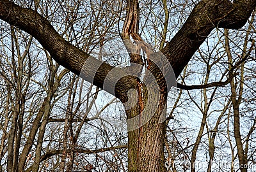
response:
<path id="1" fill-rule="evenodd" d="M 138 76 L 141 76 L 143 65 L 146 70 L 143 81 L 137 82 L 138 99 L 134 97 L 137 101 L 135 106 L 126 110 L 129 131 L 128 171 L 166 171 L 163 145 L 165 129 L 159 121 L 165 113 L 168 82 L 175 82 L 175 75 L 166 57 L 155 53 L 138 34 L 139 10 L 138 0 L 127 1 L 122 32 L 124 45 L 131 57 L 131 67 L 138 66 L 138 71 L 135 71 Z M 147 59 L 142 59 L 141 50 Z"/>

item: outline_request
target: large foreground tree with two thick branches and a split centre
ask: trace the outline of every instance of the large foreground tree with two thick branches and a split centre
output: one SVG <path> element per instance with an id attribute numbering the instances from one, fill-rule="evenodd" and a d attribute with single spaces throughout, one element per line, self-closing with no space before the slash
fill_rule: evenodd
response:
<path id="1" fill-rule="evenodd" d="M 114 68 L 86 54 L 63 39 L 47 18 L 35 10 L 22 8 L 13 1 L 0 1 L 0 18 L 31 34 L 58 64 L 113 94 L 124 103 L 128 127 L 130 127 L 128 128 L 128 171 L 166 171 L 164 167 L 166 126 L 162 118 L 166 110 L 168 91 L 170 86 L 174 85 L 172 72 L 175 76 L 180 75 L 214 28 L 243 27 L 255 9 L 256 1 L 199 1 L 177 34 L 162 46 L 161 52 L 154 52 L 138 34 L 140 21 L 138 0 L 128 0 L 126 6 L 126 17 L 120 36 L 130 55 L 130 68 Z M 145 52 L 145 59 L 143 55 L 138 54 L 140 49 Z M 141 79 L 143 66 L 147 75 Z M 137 94 L 131 90 L 136 90 Z M 132 96 L 136 97 L 136 103 L 132 104 L 134 106 L 131 106 L 132 102 L 130 102 Z M 12 161 L 13 157 L 8 156 L 8 162 L 12 164 Z M 239 158 L 239 163 L 246 162 Z M 19 164 L 19 167 L 22 166 L 24 168 L 24 165 Z M 246 171 L 241 169 L 243 170 Z"/>

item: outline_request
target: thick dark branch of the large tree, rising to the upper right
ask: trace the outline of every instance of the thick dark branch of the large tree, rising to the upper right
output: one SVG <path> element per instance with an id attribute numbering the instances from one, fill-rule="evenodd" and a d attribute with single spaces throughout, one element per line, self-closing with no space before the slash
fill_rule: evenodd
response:
<path id="1" fill-rule="evenodd" d="M 175 75 L 180 75 L 212 29 L 243 27 L 255 5 L 256 0 L 239 0 L 234 3 L 228 0 L 211 0 L 196 4 L 180 31 L 162 50 Z"/>

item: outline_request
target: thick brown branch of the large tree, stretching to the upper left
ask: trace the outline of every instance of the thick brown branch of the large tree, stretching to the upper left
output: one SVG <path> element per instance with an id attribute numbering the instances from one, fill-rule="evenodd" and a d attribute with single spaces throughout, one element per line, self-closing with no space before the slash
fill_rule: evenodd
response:
<path id="1" fill-rule="evenodd" d="M 127 76 L 125 70 L 115 68 L 115 75 L 114 73 L 109 75 L 113 66 L 100 62 L 68 43 L 55 31 L 50 22 L 36 11 L 22 8 L 7 0 L 1 0 L 0 19 L 35 37 L 58 64 L 70 69 L 72 73 L 81 76 L 93 85 L 111 94 L 116 94 L 116 97 L 126 97 L 127 90 L 136 87 L 136 79 Z M 126 77 L 122 78 L 122 76 Z M 119 80 L 119 78 L 122 79 Z M 103 83 L 108 83 L 109 87 L 103 87 Z M 112 86 L 115 87 L 115 91 Z M 125 101 L 125 98 L 121 101 Z"/>

